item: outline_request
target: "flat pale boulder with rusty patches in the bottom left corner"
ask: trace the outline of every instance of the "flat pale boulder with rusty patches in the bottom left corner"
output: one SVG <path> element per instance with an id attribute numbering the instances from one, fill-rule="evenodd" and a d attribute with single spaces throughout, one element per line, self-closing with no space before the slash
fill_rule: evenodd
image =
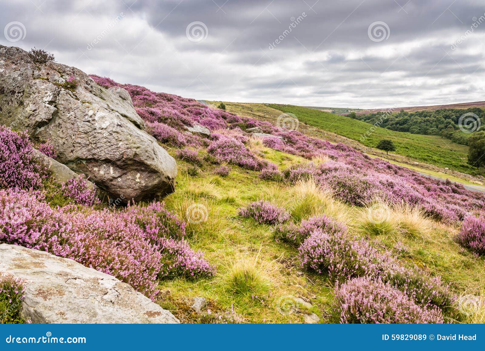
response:
<path id="1" fill-rule="evenodd" d="M 179 323 L 128 284 L 48 252 L 0 244 L 0 273 L 24 280 L 21 315 L 33 323 Z"/>

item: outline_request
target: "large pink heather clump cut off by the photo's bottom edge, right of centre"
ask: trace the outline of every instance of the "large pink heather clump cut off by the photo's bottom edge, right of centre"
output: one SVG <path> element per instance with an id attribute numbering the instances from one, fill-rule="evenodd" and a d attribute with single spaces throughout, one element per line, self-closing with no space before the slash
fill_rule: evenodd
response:
<path id="1" fill-rule="evenodd" d="M 369 278 L 336 287 L 332 309 L 340 323 L 444 323 L 436 307 L 417 305 L 390 284 Z"/>

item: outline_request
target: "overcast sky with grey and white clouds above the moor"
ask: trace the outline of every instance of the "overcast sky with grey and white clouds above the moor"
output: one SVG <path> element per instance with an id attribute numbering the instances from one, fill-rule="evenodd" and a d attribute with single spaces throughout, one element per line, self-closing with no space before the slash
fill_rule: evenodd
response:
<path id="1" fill-rule="evenodd" d="M 483 0 L 0 0 L 0 44 L 183 97 L 485 100 Z"/>

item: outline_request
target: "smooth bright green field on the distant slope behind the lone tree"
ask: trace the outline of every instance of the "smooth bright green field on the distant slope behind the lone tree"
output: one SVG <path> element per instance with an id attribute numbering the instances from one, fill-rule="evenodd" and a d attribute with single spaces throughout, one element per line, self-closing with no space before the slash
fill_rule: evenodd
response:
<path id="1" fill-rule="evenodd" d="M 464 173 L 474 174 L 475 172 L 467 165 L 468 147 L 439 136 L 394 132 L 350 117 L 306 107 L 280 104 L 267 104 L 267 106 L 292 113 L 300 122 L 357 140 L 368 147 L 375 147 L 381 139 L 390 139 L 396 146 L 397 154 Z M 362 139 L 362 136 L 365 137 Z"/>

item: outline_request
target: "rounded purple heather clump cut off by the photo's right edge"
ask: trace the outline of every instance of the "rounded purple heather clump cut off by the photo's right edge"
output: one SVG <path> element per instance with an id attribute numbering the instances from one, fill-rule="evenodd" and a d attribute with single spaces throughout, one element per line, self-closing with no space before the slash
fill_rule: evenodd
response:
<path id="1" fill-rule="evenodd" d="M 485 217 L 466 217 L 455 239 L 462 247 L 485 255 Z"/>

